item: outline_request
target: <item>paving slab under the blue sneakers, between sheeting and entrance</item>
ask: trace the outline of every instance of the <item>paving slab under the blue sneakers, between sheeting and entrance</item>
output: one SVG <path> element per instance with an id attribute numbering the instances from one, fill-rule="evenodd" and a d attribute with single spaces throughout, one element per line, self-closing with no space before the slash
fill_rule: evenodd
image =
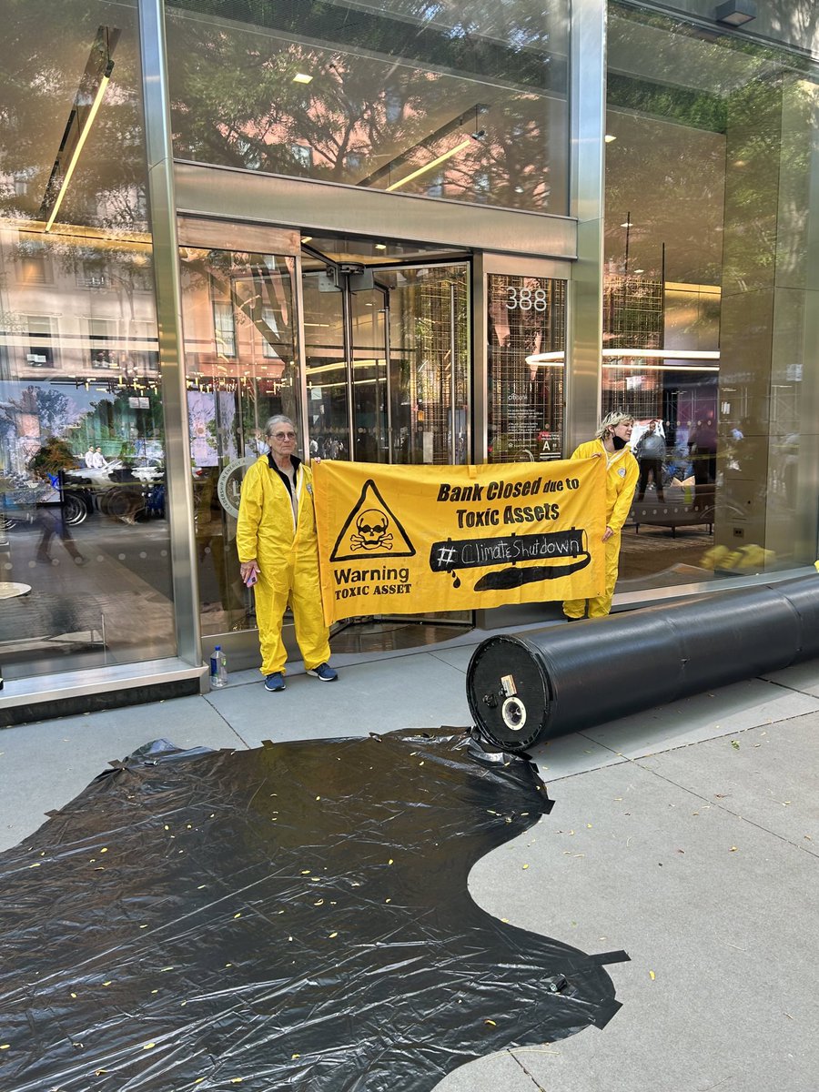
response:
<path id="1" fill-rule="evenodd" d="M 336 682 L 304 674 L 269 693 L 259 681 L 207 701 L 252 747 L 262 739 L 321 739 L 401 728 L 468 727 L 463 673 L 430 653 L 345 667 Z"/>

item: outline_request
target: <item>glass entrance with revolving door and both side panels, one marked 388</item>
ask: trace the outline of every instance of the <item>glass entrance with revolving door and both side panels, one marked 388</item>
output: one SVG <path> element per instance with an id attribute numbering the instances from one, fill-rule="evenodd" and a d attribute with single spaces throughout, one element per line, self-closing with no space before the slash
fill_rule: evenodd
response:
<path id="1" fill-rule="evenodd" d="M 199 622 L 205 645 L 218 634 L 234 661 L 252 662 L 236 520 L 245 468 L 268 450 L 266 419 L 290 416 L 305 458 L 474 461 L 473 254 L 249 225 L 237 235 L 191 217 L 179 233 Z M 553 277 L 487 276 L 479 324 L 495 393 L 484 458 L 560 453 L 565 289 Z M 471 613 L 368 616 L 339 627 L 333 645 L 394 648 L 472 622 Z"/>

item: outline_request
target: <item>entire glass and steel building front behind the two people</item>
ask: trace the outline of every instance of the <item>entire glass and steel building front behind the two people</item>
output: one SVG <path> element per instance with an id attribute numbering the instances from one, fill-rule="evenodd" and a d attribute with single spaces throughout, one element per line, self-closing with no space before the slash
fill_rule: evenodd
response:
<path id="1" fill-rule="evenodd" d="M 254 652 L 236 514 L 280 412 L 306 456 L 444 465 L 566 456 L 627 410 L 638 456 L 652 424 L 665 450 L 621 604 L 812 565 L 807 4 L 747 31 L 625 0 L 187 0 L 166 51 L 149 7 L 2 4 L 12 690 Z"/>

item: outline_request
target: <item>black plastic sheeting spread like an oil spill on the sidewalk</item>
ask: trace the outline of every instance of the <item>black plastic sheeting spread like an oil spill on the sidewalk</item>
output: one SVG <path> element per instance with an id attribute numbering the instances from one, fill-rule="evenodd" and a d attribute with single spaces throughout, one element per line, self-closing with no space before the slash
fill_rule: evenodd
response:
<path id="1" fill-rule="evenodd" d="M 143 748 L 0 855 L 0 1088 L 426 1092 L 603 1026 L 628 957 L 466 888 L 549 809 L 531 762 L 450 728 Z"/>

